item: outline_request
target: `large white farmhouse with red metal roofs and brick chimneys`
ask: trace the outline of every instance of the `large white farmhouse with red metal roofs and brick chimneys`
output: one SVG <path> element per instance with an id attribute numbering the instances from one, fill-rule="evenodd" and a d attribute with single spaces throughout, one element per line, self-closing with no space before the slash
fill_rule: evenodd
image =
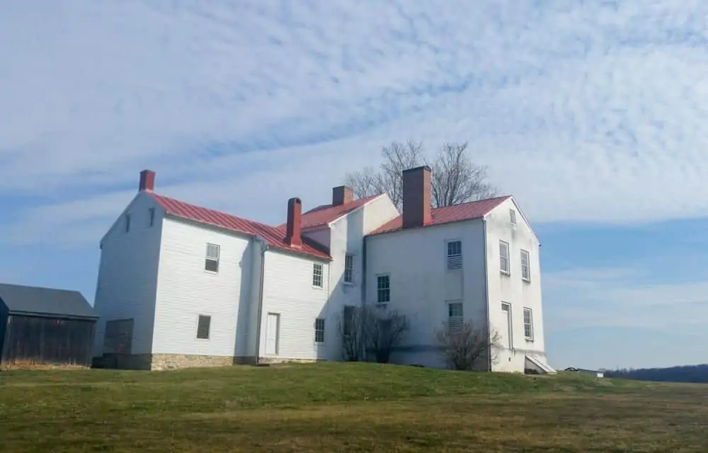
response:
<path id="1" fill-rule="evenodd" d="M 430 209 L 430 168 L 404 172 L 403 214 L 387 195 L 270 226 L 154 193 L 155 173 L 101 240 L 94 308 L 106 367 L 167 369 L 341 360 L 346 306 L 395 308 L 411 323 L 394 353 L 442 367 L 435 329 L 489 322 L 503 345 L 487 369 L 546 365 L 539 243 L 513 197 Z M 285 212 L 284 212 L 285 214 Z"/>

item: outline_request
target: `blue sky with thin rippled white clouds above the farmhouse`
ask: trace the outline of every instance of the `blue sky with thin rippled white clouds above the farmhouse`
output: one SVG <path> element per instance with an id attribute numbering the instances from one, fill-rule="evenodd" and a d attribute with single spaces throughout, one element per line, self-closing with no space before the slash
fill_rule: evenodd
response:
<path id="1" fill-rule="evenodd" d="M 704 1 L 2 1 L 0 280 L 93 299 L 161 193 L 280 223 L 467 141 L 542 241 L 552 365 L 708 362 Z"/>

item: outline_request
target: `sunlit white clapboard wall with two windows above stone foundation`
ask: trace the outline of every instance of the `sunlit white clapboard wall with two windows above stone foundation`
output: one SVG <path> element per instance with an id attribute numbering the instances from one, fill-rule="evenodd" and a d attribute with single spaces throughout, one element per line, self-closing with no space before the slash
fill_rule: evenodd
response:
<path id="1" fill-rule="evenodd" d="M 205 270 L 207 243 L 219 246 L 218 273 Z M 253 266 L 258 264 L 253 254 L 249 236 L 164 219 L 152 352 L 245 355 Z M 197 338 L 199 315 L 211 316 L 208 339 Z"/>

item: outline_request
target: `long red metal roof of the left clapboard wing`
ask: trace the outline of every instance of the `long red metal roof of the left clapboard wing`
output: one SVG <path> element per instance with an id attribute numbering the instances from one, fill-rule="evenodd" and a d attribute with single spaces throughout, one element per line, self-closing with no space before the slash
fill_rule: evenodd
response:
<path id="1" fill-rule="evenodd" d="M 261 224 L 253 222 L 252 220 L 236 217 L 232 214 L 226 214 L 225 212 L 190 205 L 183 201 L 157 195 L 156 193 L 149 194 L 164 208 L 166 213 L 171 216 L 192 220 L 193 222 L 199 222 L 201 224 L 219 226 L 251 236 L 260 236 L 265 239 L 269 246 L 281 248 L 282 250 L 304 253 L 305 255 L 316 256 L 317 258 L 331 259 L 329 252 L 326 251 L 324 246 L 314 243 L 314 241 L 305 237 L 302 238 L 302 247 L 298 248 L 287 245 L 287 243 L 285 243 L 285 226 Z"/>

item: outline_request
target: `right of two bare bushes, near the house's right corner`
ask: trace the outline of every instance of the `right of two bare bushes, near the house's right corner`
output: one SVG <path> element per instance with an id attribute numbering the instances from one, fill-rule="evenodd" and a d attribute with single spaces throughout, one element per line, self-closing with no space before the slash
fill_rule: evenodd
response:
<path id="1" fill-rule="evenodd" d="M 443 323 L 436 336 L 445 361 L 452 369 L 479 369 L 481 362 L 490 356 L 491 362 L 496 363 L 494 351 L 499 347 L 501 336 L 496 331 L 490 332 L 486 323 Z"/>

